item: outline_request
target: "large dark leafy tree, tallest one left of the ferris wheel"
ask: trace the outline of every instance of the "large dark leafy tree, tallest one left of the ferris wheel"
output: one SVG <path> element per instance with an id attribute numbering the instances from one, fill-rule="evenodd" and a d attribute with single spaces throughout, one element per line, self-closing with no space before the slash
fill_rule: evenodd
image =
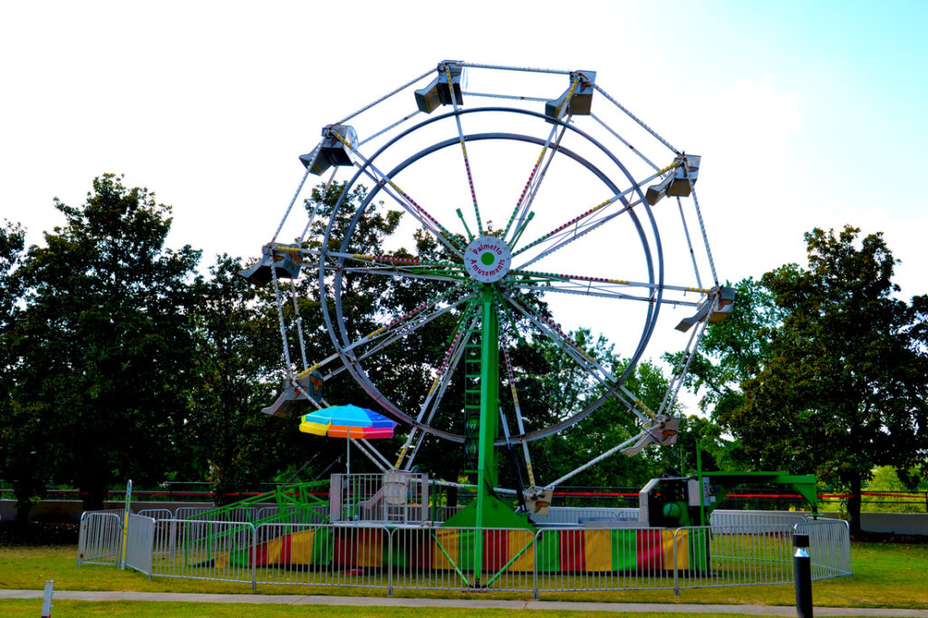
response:
<path id="1" fill-rule="evenodd" d="M 42 428 L 55 479 L 98 509 L 112 483 L 156 483 L 190 460 L 179 437 L 200 254 L 166 250 L 170 207 L 112 174 L 94 180 L 82 207 L 55 207 L 66 225 L 30 247 L 18 272 L 15 404 Z"/>

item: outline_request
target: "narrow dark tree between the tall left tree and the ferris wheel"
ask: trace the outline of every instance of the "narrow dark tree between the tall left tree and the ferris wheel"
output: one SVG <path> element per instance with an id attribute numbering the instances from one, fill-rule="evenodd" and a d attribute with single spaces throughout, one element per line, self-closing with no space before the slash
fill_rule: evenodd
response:
<path id="1" fill-rule="evenodd" d="M 279 387 L 277 315 L 268 290 L 239 277 L 242 269 L 238 259 L 219 256 L 210 277 L 194 284 L 190 311 L 197 368 L 186 429 L 195 474 L 213 483 L 217 504 L 274 477 L 297 452 L 296 427 L 281 431 L 276 418 L 260 413 Z"/>

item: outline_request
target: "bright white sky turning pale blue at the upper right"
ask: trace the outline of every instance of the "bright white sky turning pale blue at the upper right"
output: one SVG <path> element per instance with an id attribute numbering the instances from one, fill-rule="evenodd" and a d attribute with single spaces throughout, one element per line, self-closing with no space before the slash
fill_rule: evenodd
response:
<path id="1" fill-rule="evenodd" d="M 926 28 L 928 3 L 900 0 L 0 1 L 0 219 L 41 244 L 54 198 L 124 174 L 173 207 L 171 246 L 256 255 L 324 125 L 444 58 L 586 69 L 702 155 L 722 279 L 805 264 L 804 232 L 851 224 L 883 232 L 909 299 L 928 292 Z"/>

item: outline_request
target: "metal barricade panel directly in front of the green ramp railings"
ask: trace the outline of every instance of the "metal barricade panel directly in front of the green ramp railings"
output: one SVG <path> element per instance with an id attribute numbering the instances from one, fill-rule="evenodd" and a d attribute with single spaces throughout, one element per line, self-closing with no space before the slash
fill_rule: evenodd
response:
<path id="1" fill-rule="evenodd" d="M 253 586 L 254 540 L 249 522 L 156 521 L 152 574 Z"/>

